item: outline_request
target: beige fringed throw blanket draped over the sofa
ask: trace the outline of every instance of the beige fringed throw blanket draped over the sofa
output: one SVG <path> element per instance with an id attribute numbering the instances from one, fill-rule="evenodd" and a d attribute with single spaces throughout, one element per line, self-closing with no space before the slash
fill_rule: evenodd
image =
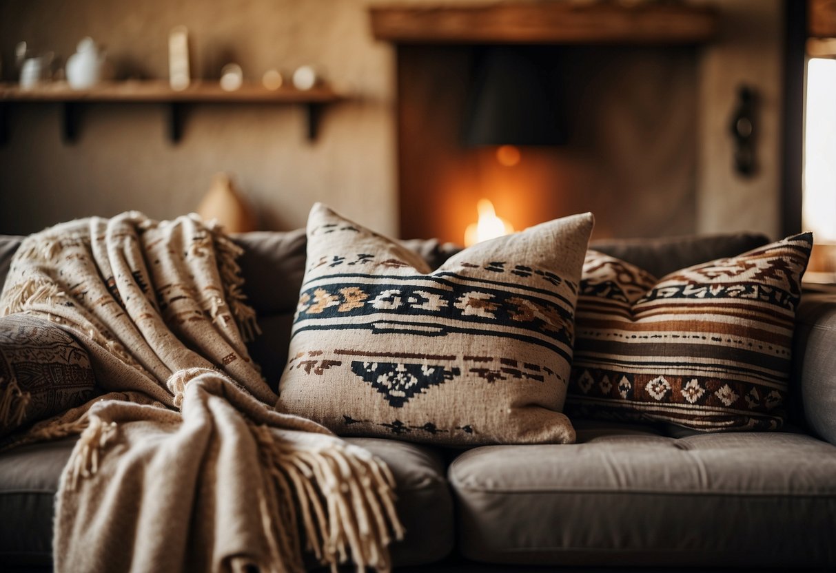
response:
<path id="1" fill-rule="evenodd" d="M 81 433 L 55 516 L 60 571 L 389 568 L 402 530 L 379 459 L 273 409 L 247 356 L 240 250 L 196 218 L 136 212 L 29 236 L 0 308 L 88 347 L 105 393 L 36 425 Z"/>

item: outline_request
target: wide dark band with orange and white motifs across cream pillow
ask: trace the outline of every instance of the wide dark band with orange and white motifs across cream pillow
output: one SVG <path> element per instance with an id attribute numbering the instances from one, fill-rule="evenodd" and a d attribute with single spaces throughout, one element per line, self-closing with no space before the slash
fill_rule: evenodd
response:
<path id="1" fill-rule="evenodd" d="M 573 330 L 568 301 L 517 281 L 478 281 L 451 272 L 319 276 L 303 285 L 293 334 L 348 328 L 416 336 L 491 335 L 531 342 L 568 360 Z"/>

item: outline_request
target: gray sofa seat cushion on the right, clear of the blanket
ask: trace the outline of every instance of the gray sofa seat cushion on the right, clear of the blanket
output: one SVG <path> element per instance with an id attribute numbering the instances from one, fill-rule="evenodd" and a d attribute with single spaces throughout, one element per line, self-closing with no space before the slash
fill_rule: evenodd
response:
<path id="1" fill-rule="evenodd" d="M 803 434 L 576 429 L 577 444 L 485 446 L 453 461 L 463 555 L 538 565 L 836 565 L 836 447 Z"/>

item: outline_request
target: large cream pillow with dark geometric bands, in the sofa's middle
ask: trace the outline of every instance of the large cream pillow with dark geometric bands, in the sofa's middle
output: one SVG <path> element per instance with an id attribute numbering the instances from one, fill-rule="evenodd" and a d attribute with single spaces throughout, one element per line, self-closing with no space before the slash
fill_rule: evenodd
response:
<path id="1" fill-rule="evenodd" d="M 568 443 L 560 413 L 593 217 L 421 256 L 314 205 L 278 409 L 340 435 Z"/>

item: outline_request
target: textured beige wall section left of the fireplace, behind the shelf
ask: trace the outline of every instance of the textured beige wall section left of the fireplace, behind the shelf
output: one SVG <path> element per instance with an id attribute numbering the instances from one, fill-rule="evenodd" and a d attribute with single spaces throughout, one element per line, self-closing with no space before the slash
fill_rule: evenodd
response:
<path id="1" fill-rule="evenodd" d="M 8 68 L 20 40 L 66 58 L 89 35 L 120 75 L 167 78 L 167 36 L 178 24 L 191 32 L 193 76 L 217 78 L 228 61 L 248 79 L 316 63 L 353 97 L 325 109 L 312 145 L 296 106 L 198 105 L 172 145 L 164 106 L 95 105 L 71 146 L 60 141 L 59 105 L 15 106 L 0 149 L 0 232 L 126 209 L 176 216 L 194 209 L 218 170 L 235 175 L 267 228 L 303 226 L 324 200 L 395 232 L 394 62 L 371 37 L 364 0 L 4 0 L 0 49 Z"/>

